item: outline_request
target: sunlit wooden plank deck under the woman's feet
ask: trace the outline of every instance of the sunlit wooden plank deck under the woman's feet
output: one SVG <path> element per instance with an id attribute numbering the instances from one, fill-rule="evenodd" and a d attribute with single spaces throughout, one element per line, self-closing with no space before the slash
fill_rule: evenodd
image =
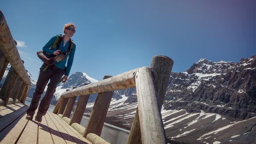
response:
<path id="1" fill-rule="evenodd" d="M 1 144 L 92 144 L 52 112 L 41 123 L 27 120 L 27 108 L 22 103 L 0 106 Z"/>

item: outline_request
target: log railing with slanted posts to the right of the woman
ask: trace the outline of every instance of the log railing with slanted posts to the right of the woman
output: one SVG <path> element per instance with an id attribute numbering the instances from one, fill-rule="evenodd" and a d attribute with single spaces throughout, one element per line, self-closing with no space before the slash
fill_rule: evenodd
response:
<path id="1" fill-rule="evenodd" d="M 116 76 L 105 76 L 102 81 L 81 86 L 61 94 L 53 113 L 58 114 L 87 139 L 101 135 L 113 91 L 136 87 L 138 107 L 131 127 L 128 144 L 166 144 L 161 108 L 173 60 L 156 55 L 150 68 L 141 67 Z M 87 127 L 80 124 L 90 94 L 99 93 Z M 79 100 L 70 119 L 76 96 Z M 102 140 L 103 141 L 103 140 Z M 104 143 L 104 142 L 102 142 Z"/>

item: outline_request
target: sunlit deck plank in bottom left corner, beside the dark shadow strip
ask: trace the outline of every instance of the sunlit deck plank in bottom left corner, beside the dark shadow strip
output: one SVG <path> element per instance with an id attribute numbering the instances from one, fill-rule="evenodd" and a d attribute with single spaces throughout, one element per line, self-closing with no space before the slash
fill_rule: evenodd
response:
<path id="1" fill-rule="evenodd" d="M 26 119 L 26 112 L 24 112 L 12 124 L 0 132 L 0 142 L 2 144 L 15 144 L 28 121 Z"/>

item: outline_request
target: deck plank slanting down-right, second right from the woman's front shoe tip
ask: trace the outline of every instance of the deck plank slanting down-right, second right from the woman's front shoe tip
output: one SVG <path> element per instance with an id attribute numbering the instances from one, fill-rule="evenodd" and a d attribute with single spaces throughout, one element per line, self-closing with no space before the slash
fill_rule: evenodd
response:
<path id="1" fill-rule="evenodd" d="M 48 112 L 44 116 L 45 116 L 47 125 L 49 127 L 49 131 L 50 131 L 50 133 L 52 135 L 53 142 L 55 144 L 65 144 L 66 141 L 62 137 L 61 133 L 58 131 L 58 129 L 55 126 L 55 124 L 53 123 L 52 119 L 49 117 Z"/>

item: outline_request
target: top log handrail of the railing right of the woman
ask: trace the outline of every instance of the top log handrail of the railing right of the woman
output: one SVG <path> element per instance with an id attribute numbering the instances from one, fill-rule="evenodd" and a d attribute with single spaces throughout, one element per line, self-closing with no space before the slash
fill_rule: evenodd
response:
<path id="1" fill-rule="evenodd" d="M 69 98 L 77 95 L 90 95 L 93 93 L 115 91 L 118 89 L 129 89 L 135 87 L 135 74 L 137 69 L 107 78 L 105 80 L 81 86 L 70 91 L 63 92 L 61 98 Z"/>

